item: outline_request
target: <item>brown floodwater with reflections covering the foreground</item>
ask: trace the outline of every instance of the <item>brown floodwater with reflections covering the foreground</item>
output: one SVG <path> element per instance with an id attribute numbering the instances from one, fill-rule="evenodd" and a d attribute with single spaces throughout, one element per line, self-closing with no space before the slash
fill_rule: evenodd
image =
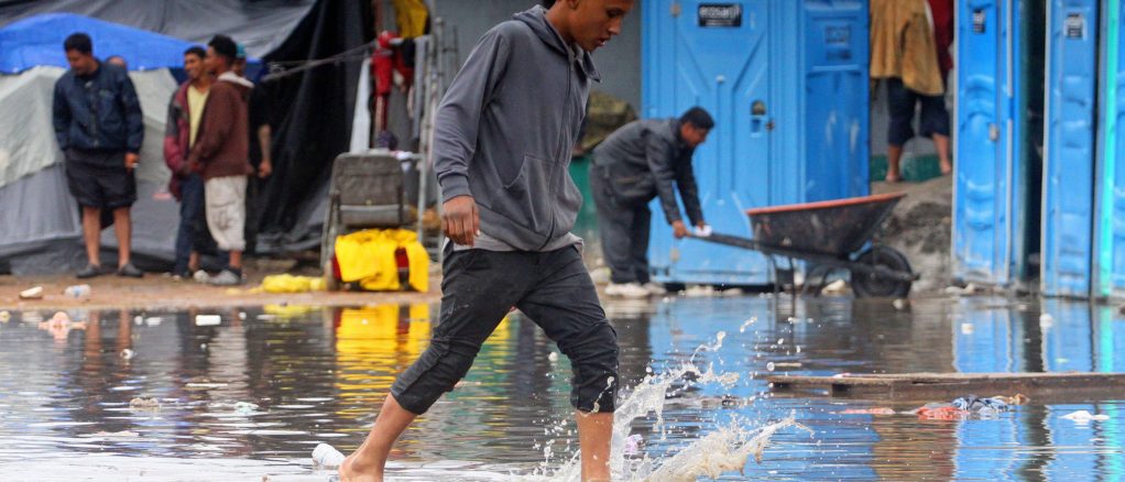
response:
<path id="1" fill-rule="evenodd" d="M 608 303 L 624 386 L 687 362 L 726 375 L 673 381 L 663 424 L 634 420 L 628 456 L 676 464 L 676 453 L 722 427 L 752 430 L 792 416 L 811 435 L 783 427 L 760 463 L 752 456 L 742 473 L 721 479 L 1125 478 L 1125 393 L 920 420 L 901 412 L 948 400 L 782 394 L 762 379 L 771 367 L 1125 372 L 1125 317 L 1114 308 L 992 298 L 900 308 L 756 295 Z M 362 442 L 395 374 L 425 348 L 436 312 L 426 304 L 70 312 L 84 326 L 11 313 L 0 324 L 0 479 L 328 481 L 332 471 L 313 466 L 313 447 L 348 453 Z M 550 480 L 576 449 L 568 372 L 532 322 L 510 317 L 465 381 L 403 437 L 388 479 Z M 868 408 L 900 413 L 844 413 Z M 1062 418 L 1077 410 L 1108 419 Z"/>

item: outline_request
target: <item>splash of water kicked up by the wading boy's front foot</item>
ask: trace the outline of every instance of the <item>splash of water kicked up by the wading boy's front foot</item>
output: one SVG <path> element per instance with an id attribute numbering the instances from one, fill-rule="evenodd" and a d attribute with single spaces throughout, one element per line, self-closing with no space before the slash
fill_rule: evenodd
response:
<path id="1" fill-rule="evenodd" d="M 719 383 L 729 389 L 738 381 L 738 373 L 716 373 L 711 365 L 703 371 L 694 362 L 695 355 L 702 351 L 718 352 L 724 337 L 726 333 L 719 331 L 714 344 L 701 345 L 687 362 L 664 373 L 648 374 L 618 403 L 613 412 L 613 437 L 610 443 L 610 471 L 613 480 L 678 482 L 694 481 L 699 476 L 713 479 L 724 472 L 741 471 L 750 456 L 760 463 L 770 438 L 783 428 L 796 427 L 812 435 L 812 430 L 798 424 L 792 413 L 781 421 L 754 429 L 746 428 L 752 425 L 749 420 L 735 418 L 670 457 L 630 457 L 637 451 L 640 439 L 638 435 L 630 435 L 633 420 L 651 415 L 656 420 L 654 431 L 663 431 L 665 398 L 674 384 L 691 386 Z M 688 374 L 694 376 L 687 380 L 685 375 Z M 542 469 L 524 480 L 572 482 L 580 479 L 579 454 L 575 454 L 562 467 L 550 470 L 544 463 Z"/>

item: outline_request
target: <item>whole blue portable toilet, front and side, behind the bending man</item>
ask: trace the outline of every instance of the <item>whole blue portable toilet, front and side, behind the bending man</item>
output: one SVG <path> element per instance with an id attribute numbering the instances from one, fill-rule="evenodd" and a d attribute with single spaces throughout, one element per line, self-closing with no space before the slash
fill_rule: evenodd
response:
<path id="1" fill-rule="evenodd" d="M 642 116 L 716 119 L 694 167 L 704 219 L 750 236 L 746 210 L 867 194 L 867 7 L 862 0 L 651 0 Z M 654 202 L 652 279 L 765 284 L 767 260 L 673 239 Z"/>

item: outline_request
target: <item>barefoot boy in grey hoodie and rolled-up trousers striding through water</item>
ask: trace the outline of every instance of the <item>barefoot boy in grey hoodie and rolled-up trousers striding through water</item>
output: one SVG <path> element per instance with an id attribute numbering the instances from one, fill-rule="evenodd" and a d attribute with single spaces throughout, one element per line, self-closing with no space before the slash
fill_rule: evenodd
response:
<path id="1" fill-rule="evenodd" d="M 465 376 L 511 307 L 574 366 L 582 479 L 610 480 L 616 334 L 570 233 L 582 194 L 567 171 L 585 115 L 590 53 L 621 31 L 633 0 L 559 0 L 486 33 L 436 112 L 433 160 L 450 242 L 441 320 L 390 389 L 344 482 L 381 481 L 398 436 Z"/>

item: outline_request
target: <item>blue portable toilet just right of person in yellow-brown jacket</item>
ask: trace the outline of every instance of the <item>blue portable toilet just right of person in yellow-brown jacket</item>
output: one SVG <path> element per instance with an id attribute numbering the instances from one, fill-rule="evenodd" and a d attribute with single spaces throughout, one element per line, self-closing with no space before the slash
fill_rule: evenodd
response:
<path id="1" fill-rule="evenodd" d="M 953 275 L 1015 285 L 1040 244 L 1044 0 L 958 0 Z"/>

